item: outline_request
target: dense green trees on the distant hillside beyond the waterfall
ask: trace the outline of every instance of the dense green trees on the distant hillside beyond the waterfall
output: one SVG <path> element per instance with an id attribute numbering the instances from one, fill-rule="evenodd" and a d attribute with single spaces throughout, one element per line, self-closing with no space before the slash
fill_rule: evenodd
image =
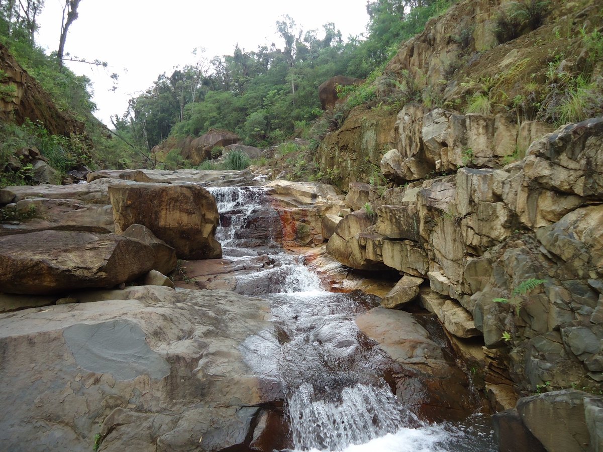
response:
<path id="1" fill-rule="evenodd" d="M 391 57 L 397 45 L 422 30 L 447 7 L 444 0 L 368 2 L 368 37 L 344 40 L 335 24 L 304 30 L 292 17 L 276 22 L 280 46 L 204 57 L 162 74 L 131 99 L 122 119 L 148 149 L 172 136 L 199 136 L 211 128 L 235 131 L 250 145 L 277 143 L 295 124 L 317 118 L 318 86 L 334 75 L 366 78 Z"/>

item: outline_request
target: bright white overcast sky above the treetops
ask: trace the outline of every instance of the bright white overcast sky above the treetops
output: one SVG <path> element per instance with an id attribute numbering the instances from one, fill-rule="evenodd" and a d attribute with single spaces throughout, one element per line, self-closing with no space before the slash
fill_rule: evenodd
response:
<path id="1" fill-rule="evenodd" d="M 37 43 L 51 52 L 58 47 L 64 0 L 46 0 L 39 18 Z M 76 74 L 93 81 L 95 115 L 110 126 L 109 117 L 121 116 L 128 99 L 146 90 L 174 66 L 192 63 L 192 49 L 204 47 L 210 60 L 232 54 L 236 43 L 245 51 L 276 43 L 276 21 L 289 14 L 304 31 L 335 22 L 344 39 L 365 32 L 366 0 L 83 0 L 79 17 L 69 28 L 65 52 L 107 61 L 109 67 L 66 63 Z M 119 74 L 111 92 L 109 75 Z"/>

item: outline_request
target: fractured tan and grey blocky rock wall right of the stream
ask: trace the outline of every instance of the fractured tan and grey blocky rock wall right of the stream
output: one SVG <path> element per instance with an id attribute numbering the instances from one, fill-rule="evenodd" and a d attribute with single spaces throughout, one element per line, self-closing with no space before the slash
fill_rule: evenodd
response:
<path id="1" fill-rule="evenodd" d="M 452 139 L 456 126 L 450 128 L 453 116 L 446 118 L 432 121 L 430 127 L 441 130 L 429 135 L 425 118 L 421 127 L 410 121 L 410 130 L 417 132 L 406 137 L 416 139 L 408 149 L 423 152 L 421 159 L 439 149 L 434 162 L 444 165 L 455 140 L 469 139 L 463 134 Z M 477 119 L 466 118 L 463 124 Z M 542 128 L 531 124 L 529 130 Z M 504 148 L 494 146 L 494 135 L 484 133 L 482 138 L 490 140 L 484 149 Z M 517 143 L 514 133 L 511 137 Z M 377 269 L 382 263 L 428 278 L 437 297 L 421 296 L 423 304 L 453 336 L 483 335 L 491 349 L 511 346 L 510 354 L 496 359 L 508 357 L 499 367 L 508 369 L 507 378 L 519 391 L 533 392 L 545 384 L 601 388 L 602 137 L 603 118 L 589 119 L 535 139 L 525 159 L 502 169 L 461 166 L 455 174 L 388 189 L 376 209 L 376 225 L 356 222 L 351 233 L 344 225 L 352 223 L 344 219 L 327 251 L 353 268 Z M 478 152 L 474 157 L 497 158 Z M 331 244 L 343 239 L 339 246 Z M 537 279 L 545 283 L 520 295 L 515 308 L 494 303 Z M 488 378 L 499 380 L 494 374 Z"/>

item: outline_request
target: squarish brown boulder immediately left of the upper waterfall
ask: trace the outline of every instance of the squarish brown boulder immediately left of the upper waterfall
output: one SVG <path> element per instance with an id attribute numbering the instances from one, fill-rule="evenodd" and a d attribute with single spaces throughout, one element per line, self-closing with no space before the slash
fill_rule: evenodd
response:
<path id="1" fill-rule="evenodd" d="M 110 186 L 117 233 L 142 224 L 168 243 L 180 259 L 216 259 L 222 248 L 213 238 L 219 222 L 216 201 L 197 185 Z"/>

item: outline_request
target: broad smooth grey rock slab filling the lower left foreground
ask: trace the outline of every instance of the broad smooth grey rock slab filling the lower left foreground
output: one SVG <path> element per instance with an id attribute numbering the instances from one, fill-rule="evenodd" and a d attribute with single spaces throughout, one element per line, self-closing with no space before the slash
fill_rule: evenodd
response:
<path id="1" fill-rule="evenodd" d="M 0 442 L 90 450 L 98 435 L 100 450 L 247 450 L 282 398 L 276 369 L 253 368 L 269 318 L 261 300 L 159 286 L 0 315 Z"/>

